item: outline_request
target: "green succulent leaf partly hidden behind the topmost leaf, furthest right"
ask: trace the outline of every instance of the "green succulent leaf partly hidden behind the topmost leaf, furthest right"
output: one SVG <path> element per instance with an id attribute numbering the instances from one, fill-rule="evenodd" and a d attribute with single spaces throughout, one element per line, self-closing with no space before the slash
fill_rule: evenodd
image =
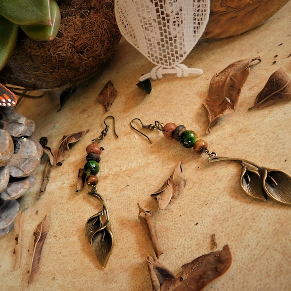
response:
<path id="1" fill-rule="evenodd" d="M 51 0 L 52 25 L 20 25 L 25 34 L 33 40 L 47 41 L 53 40 L 59 31 L 61 24 L 61 12 L 58 3 Z"/>

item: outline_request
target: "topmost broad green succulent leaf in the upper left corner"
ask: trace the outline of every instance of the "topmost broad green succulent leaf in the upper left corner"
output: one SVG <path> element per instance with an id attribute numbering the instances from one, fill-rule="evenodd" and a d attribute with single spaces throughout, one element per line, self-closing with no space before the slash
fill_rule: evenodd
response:
<path id="1" fill-rule="evenodd" d="M 0 0 L 0 15 L 18 25 L 51 25 L 50 0 Z"/>

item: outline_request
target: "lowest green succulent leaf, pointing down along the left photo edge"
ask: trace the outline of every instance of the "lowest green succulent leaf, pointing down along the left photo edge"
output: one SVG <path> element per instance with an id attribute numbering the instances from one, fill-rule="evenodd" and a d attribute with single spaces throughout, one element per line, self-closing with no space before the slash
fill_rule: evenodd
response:
<path id="1" fill-rule="evenodd" d="M 18 25 L 0 15 L 0 71 L 11 57 L 17 40 Z"/>

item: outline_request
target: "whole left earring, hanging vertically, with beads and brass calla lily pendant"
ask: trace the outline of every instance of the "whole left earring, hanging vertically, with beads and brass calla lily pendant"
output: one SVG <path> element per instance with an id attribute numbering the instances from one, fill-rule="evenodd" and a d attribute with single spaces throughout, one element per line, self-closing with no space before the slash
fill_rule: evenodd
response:
<path id="1" fill-rule="evenodd" d="M 103 140 L 107 134 L 109 126 L 106 124 L 106 120 L 108 118 L 113 119 L 113 131 L 115 136 L 118 138 L 115 132 L 115 120 L 113 116 L 107 116 L 104 119 L 105 129 L 101 131 L 101 135 L 92 140 L 92 144 L 87 146 L 87 156 L 86 163 L 84 165 L 83 171 L 79 171 L 79 177 L 83 176 L 83 180 L 85 180 L 88 186 L 91 186 L 91 190 L 88 194 L 93 195 L 101 202 L 103 208 L 97 214 L 91 216 L 85 225 L 85 235 L 88 242 L 92 246 L 92 250 L 104 268 L 109 259 L 109 256 L 113 247 L 113 233 L 111 231 L 109 213 L 107 206 L 104 202 L 103 197 L 97 193 L 97 183 L 98 177 L 97 174 L 99 172 L 99 162 L 100 162 L 100 154 L 104 150 L 103 147 L 100 147 L 96 144 L 97 141 Z M 83 174 L 82 174 L 83 173 Z"/>

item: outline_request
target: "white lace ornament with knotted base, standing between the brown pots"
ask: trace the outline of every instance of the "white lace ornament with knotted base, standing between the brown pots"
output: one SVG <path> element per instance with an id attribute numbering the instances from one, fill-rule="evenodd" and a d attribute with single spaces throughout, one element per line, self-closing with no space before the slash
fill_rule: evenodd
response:
<path id="1" fill-rule="evenodd" d="M 201 74 L 180 63 L 201 37 L 209 12 L 210 0 L 115 0 L 120 32 L 156 65 L 140 81 L 162 78 L 163 73 Z"/>

